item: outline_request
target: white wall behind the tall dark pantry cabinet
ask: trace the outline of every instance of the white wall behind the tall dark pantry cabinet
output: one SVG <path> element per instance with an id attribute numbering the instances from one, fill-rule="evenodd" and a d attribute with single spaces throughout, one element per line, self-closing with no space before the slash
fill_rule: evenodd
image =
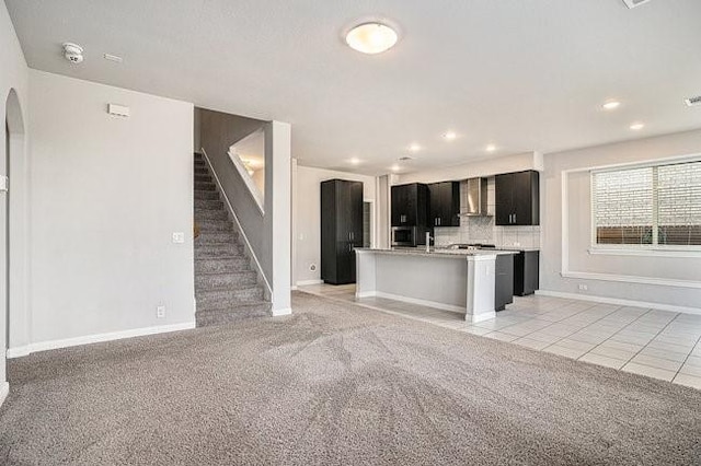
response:
<path id="1" fill-rule="evenodd" d="M 295 193 L 292 237 L 296 242 L 296 256 L 292 265 L 294 283 L 304 284 L 321 280 L 321 182 L 333 178 L 363 182 L 364 201 L 371 201 L 376 205 L 372 223 L 374 229 L 377 230 L 378 207 L 375 177 L 298 165 L 297 173 L 292 176 L 296 182 L 292 189 Z M 375 234 L 377 236 L 377 232 Z M 315 266 L 315 270 L 310 269 L 312 265 Z"/>

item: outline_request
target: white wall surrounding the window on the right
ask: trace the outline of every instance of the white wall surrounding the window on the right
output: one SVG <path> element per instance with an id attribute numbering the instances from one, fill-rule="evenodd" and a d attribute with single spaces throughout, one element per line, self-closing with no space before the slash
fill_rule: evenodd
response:
<path id="1" fill-rule="evenodd" d="M 690 154 L 701 154 L 701 130 L 547 154 L 541 175 L 541 290 L 701 312 L 701 256 L 588 253 L 591 210 L 586 168 Z M 581 291 L 579 284 L 587 290 Z"/>

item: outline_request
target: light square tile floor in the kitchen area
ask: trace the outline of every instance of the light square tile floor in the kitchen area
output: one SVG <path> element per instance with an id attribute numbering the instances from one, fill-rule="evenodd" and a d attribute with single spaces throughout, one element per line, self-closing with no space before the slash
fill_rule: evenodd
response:
<path id="1" fill-rule="evenodd" d="M 515 296 L 494 319 L 470 324 L 435 307 L 356 299 L 354 284 L 299 290 L 701 389 L 701 315 L 530 295 Z"/>

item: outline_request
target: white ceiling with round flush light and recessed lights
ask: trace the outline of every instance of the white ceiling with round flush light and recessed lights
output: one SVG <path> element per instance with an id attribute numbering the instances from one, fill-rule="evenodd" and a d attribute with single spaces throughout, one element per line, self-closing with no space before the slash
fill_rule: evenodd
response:
<path id="1" fill-rule="evenodd" d="M 32 68 L 289 121 L 302 165 L 387 173 L 417 142 L 414 171 L 483 159 L 487 143 L 489 156 L 548 153 L 701 127 L 683 104 L 701 94 L 700 0 L 5 3 Z M 399 44 L 345 46 L 344 28 L 372 16 L 401 26 Z M 67 40 L 81 66 L 61 58 Z M 609 98 L 623 105 L 604 112 Z"/>

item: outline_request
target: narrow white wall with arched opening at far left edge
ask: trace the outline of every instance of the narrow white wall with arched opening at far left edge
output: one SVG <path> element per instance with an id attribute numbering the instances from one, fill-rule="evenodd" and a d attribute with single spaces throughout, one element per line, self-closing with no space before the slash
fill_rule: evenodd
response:
<path id="1" fill-rule="evenodd" d="M 0 244 L 5 244 L 5 225 L 9 221 L 10 233 L 10 282 L 9 290 L 5 288 L 5 270 L 8 267 L 8 252 L 4 246 L 0 248 L 0 351 L 2 358 L 0 359 L 0 404 L 4 399 L 7 393 L 7 375 L 5 375 L 5 353 L 8 341 L 7 336 L 7 316 L 5 313 L 10 312 L 10 327 L 11 329 L 18 329 L 21 338 L 26 338 L 28 334 L 28 321 L 27 321 L 27 295 L 26 295 L 26 189 L 27 189 L 27 147 L 26 143 L 28 135 L 28 80 L 27 80 L 27 67 L 20 47 L 20 42 L 14 32 L 14 26 L 10 21 L 10 15 L 5 9 L 4 2 L 0 3 L 0 115 L 5 117 L 5 102 L 10 91 L 14 90 L 19 98 L 19 106 L 22 112 L 22 119 L 24 126 L 24 137 L 19 136 L 12 143 L 12 153 L 10 167 L 8 173 L 7 154 L 4 138 L 0 144 L 0 171 L 2 175 L 9 176 L 10 182 L 10 212 L 4 209 L 5 197 L 8 194 L 0 194 L 0 231 L 2 231 L 2 237 Z M 4 121 L 3 130 L 4 135 Z M 10 293 L 10 310 L 5 310 L 5 294 Z"/>

